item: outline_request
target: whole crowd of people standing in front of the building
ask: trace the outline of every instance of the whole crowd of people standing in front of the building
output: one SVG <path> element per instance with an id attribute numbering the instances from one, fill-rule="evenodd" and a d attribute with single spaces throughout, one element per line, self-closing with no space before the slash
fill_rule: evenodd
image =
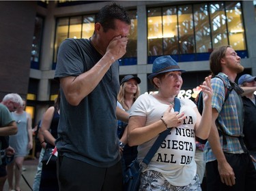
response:
<path id="1" fill-rule="evenodd" d="M 42 150 L 33 190 L 122 191 L 126 167 L 143 160 L 169 128 L 141 173 L 140 191 L 200 191 L 203 177 L 208 191 L 255 190 L 256 77 L 244 74 L 236 84 L 244 70 L 240 56 L 230 46 L 216 48 L 212 74 L 200 85 L 202 113 L 190 99 L 180 99 L 180 111 L 174 111 L 186 71 L 171 56 L 154 60 L 148 78 L 156 93 L 141 94 L 135 75 L 119 82 L 130 24 L 126 10 L 112 3 L 98 12 L 89 39 L 66 39 L 59 47 L 59 95 L 38 122 Z M 18 94 L 7 94 L 0 104 L 0 191 L 7 178 L 10 191 L 21 190 L 23 161 L 33 147 L 24 109 Z M 57 160 L 42 163 L 55 147 Z"/>

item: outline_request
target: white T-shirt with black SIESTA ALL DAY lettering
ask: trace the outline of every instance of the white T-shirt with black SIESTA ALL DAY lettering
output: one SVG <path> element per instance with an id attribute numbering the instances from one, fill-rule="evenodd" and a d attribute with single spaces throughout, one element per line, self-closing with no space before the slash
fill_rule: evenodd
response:
<path id="1" fill-rule="evenodd" d="M 160 103 L 150 94 L 142 94 L 132 105 L 130 116 L 147 117 L 146 126 L 163 116 L 167 104 Z M 186 119 L 180 126 L 171 129 L 171 132 L 162 142 L 158 151 L 148 164 L 147 170 L 154 170 L 162 175 L 174 186 L 190 184 L 197 173 L 195 163 L 195 123 L 197 107 L 190 99 L 180 99 L 180 112 L 184 112 Z M 174 112 L 173 109 L 171 109 Z M 158 136 L 157 136 L 158 137 Z M 138 159 L 143 160 L 157 137 L 138 146 Z"/>

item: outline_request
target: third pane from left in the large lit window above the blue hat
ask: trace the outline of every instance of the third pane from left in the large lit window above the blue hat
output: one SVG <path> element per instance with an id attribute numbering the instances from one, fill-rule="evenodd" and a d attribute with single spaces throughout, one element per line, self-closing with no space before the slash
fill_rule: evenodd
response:
<path id="1" fill-rule="evenodd" d="M 184 5 L 177 9 L 180 54 L 195 52 L 194 23 L 192 6 Z"/>

